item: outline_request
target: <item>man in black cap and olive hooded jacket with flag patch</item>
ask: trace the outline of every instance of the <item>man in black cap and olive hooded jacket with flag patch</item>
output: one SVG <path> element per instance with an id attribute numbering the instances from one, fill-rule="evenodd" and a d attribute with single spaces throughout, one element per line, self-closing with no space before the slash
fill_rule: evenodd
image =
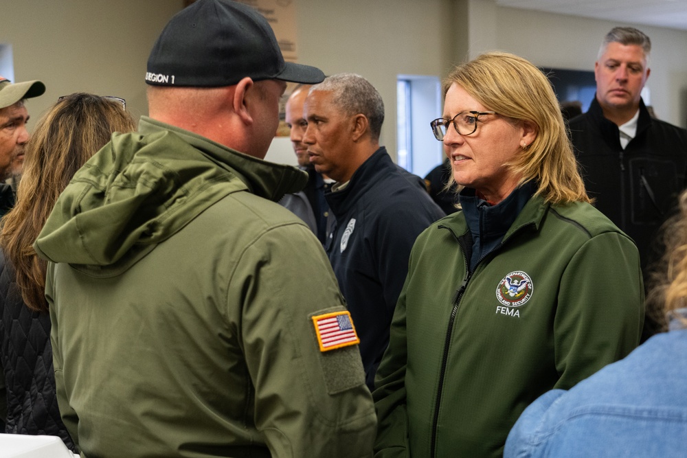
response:
<path id="1" fill-rule="evenodd" d="M 283 81 L 322 78 L 233 2 L 162 32 L 150 117 L 76 174 L 35 244 L 82 455 L 371 455 L 350 315 L 317 238 L 275 203 L 306 175 L 261 160 Z"/>

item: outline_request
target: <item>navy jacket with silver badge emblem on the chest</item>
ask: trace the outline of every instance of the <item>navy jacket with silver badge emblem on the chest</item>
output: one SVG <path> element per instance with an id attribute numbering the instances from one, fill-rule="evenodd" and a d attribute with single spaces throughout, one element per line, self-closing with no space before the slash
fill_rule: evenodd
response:
<path id="1" fill-rule="evenodd" d="M 444 212 L 422 179 L 395 165 L 383 147 L 354 172 L 348 186 L 325 197 L 336 217 L 326 251 L 358 332 L 365 381 L 372 389 L 410 249 Z"/>

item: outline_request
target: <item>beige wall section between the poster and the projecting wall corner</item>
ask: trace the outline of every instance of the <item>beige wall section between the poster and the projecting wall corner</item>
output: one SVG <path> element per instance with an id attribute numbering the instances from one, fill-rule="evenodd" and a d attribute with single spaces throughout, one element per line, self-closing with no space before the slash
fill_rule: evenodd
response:
<path id="1" fill-rule="evenodd" d="M 444 76 L 450 69 L 453 43 L 444 31 L 453 1 L 296 1 L 299 62 L 370 80 L 385 105 L 381 142 L 395 157 L 396 76 Z"/>

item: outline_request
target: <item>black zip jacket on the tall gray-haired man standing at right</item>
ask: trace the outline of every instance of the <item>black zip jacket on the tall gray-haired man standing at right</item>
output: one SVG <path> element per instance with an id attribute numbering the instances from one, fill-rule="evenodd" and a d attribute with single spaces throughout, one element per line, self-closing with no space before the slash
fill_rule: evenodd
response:
<path id="1" fill-rule="evenodd" d="M 687 130 L 652 119 L 641 100 L 637 124 L 623 150 L 618 126 L 594 98 L 587 113 L 570 121 L 570 133 L 589 196 L 635 241 L 645 268 L 660 255 L 657 229 L 686 185 Z"/>

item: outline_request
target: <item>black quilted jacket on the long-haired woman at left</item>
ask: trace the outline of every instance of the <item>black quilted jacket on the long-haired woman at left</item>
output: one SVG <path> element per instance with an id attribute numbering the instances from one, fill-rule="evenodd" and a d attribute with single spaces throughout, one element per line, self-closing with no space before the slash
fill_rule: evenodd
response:
<path id="1" fill-rule="evenodd" d="M 56 435 L 76 451 L 60 418 L 50 346 L 50 315 L 24 305 L 14 268 L 0 251 L 0 411 L 5 433 Z M 4 381 L 4 384 L 2 383 Z M 5 387 L 3 390 L 2 387 Z"/>

